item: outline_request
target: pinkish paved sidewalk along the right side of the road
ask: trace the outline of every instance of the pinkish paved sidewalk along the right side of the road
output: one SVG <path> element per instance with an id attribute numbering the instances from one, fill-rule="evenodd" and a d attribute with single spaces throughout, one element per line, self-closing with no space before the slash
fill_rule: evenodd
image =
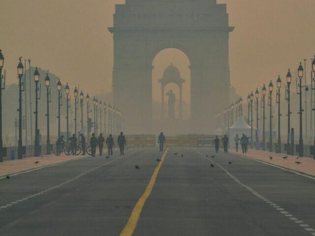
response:
<path id="1" fill-rule="evenodd" d="M 315 176 L 315 160 L 311 157 L 300 157 L 299 159 L 297 159 L 298 156 L 288 155 L 287 159 L 284 159 L 283 157 L 286 156 L 286 154 L 284 153 L 276 154 L 275 152 L 261 151 L 255 149 L 249 149 L 246 154 L 242 153 L 242 149 L 239 149 L 238 152 L 236 152 L 235 149 L 231 149 L 229 150 L 229 152 L 244 155 L 246 157 L 281 166 L 286 169 Z M 272 160 L 270 160 L 270 156 L 272 156 Z M 297 163 L 295 163 L 296 161 L 301 162 L 301 164 L 298 165 Z"/>

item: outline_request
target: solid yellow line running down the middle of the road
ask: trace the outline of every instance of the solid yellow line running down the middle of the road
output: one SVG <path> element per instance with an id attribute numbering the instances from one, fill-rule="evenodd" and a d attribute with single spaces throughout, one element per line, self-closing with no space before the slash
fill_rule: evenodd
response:
<path id="1" fill-rule="evenodd" d="M 149 182 L 146 190 L 144 191 L 144 193 L 142 194 L 142 196 L 139 198 L 138 202 L 136 203 L 135 207 L 133 208 L 131 215 L 128 219 L 128 222 L 127 222 L 125 228 L 123 229 L 122 233 L 120 234 L 120 236 L 131 236 L 133 234 L 133 232 L 137 226 L 142 208 L 143 208 L 144 204 L 146 203 L 147 198 L 150 196 L 152 189 L 154 187 L 154 184 L 156 183 L 159 169 L 161 168 L 161 166 L 164 162 L 167 151 L 168 151 L 168 148 L 163 153 L 161 161 L 158 163 L 158 166 L 154 170 L 153 175 L 150 179 L 150 182 Z"/>

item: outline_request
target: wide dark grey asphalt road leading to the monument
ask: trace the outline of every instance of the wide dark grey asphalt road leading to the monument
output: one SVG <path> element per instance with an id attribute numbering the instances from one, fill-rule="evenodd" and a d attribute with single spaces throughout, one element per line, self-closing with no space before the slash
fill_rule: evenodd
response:
<path id="1" fill-rule="evenodd" d="M 315 235 L 315 179 L 212 154 L 128 149 L 0 179 L 0 235 L 117 236 L 130 222 L 134 236 Z"/>

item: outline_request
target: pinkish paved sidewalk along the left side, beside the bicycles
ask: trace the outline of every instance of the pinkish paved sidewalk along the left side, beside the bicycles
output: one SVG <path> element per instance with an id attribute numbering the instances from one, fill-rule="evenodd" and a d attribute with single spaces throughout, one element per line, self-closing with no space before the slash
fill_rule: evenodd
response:
<path id="1" fill-rule="evenodd" d="M 10 175 L 13 173 L 18 173 L 22 171 L 31 170 L 34 168 L 40 168 L 44 166 L 49 166 L 57 163 L 61 163 L 64 161 L 80 159 L 86 156 L 67 156 L 65 154 L 56 156 L 52 155 L 43 155 L 43 157 L 27 157 L 21 160 L 11 160 L 11 161 L 4 161 L 0 163 L 0 177 Z M 35 164 L 35 161 L 39 161 L 38 164 Z"/>

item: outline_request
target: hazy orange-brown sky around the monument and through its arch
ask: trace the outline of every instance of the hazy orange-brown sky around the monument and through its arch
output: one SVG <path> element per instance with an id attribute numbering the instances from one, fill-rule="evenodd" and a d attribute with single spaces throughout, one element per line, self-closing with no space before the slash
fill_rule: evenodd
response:
<path id="1" fill-rule="evenodd" d="M 315 54 L 315 0 L 218 0 L 227 3 L 231 85 L 246 95 L 261 83 L 284 79 L 287 67 Z M 111 90 L 115 4 L 125 0 L 0 0 L 0 49 L 7 82 L 16 78 L 18 58 L 50 69 L 86 92 Z M 163 56 L 164 55 L 164 56 Z M 165 55 L 168 55 L 167 57 Z M 187 58 L 172 51 L 155 61 L 154 80 L 171 61 L 189 80 Z M 159 87 L 154 86 L 154 98 Z M 189 98 L 189 83 L 184 88 Z"/>

